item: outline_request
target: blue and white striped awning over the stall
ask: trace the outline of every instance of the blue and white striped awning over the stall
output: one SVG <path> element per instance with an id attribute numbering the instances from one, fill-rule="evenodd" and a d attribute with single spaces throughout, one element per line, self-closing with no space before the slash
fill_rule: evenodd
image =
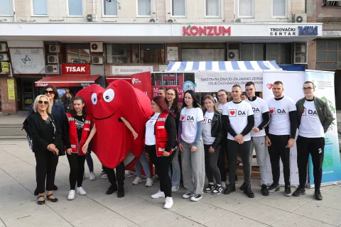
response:
<path id="1" fill-rule="evenodd" d="M 282 70 L 276 61 L 169 62 L 166 72 Z"/>

